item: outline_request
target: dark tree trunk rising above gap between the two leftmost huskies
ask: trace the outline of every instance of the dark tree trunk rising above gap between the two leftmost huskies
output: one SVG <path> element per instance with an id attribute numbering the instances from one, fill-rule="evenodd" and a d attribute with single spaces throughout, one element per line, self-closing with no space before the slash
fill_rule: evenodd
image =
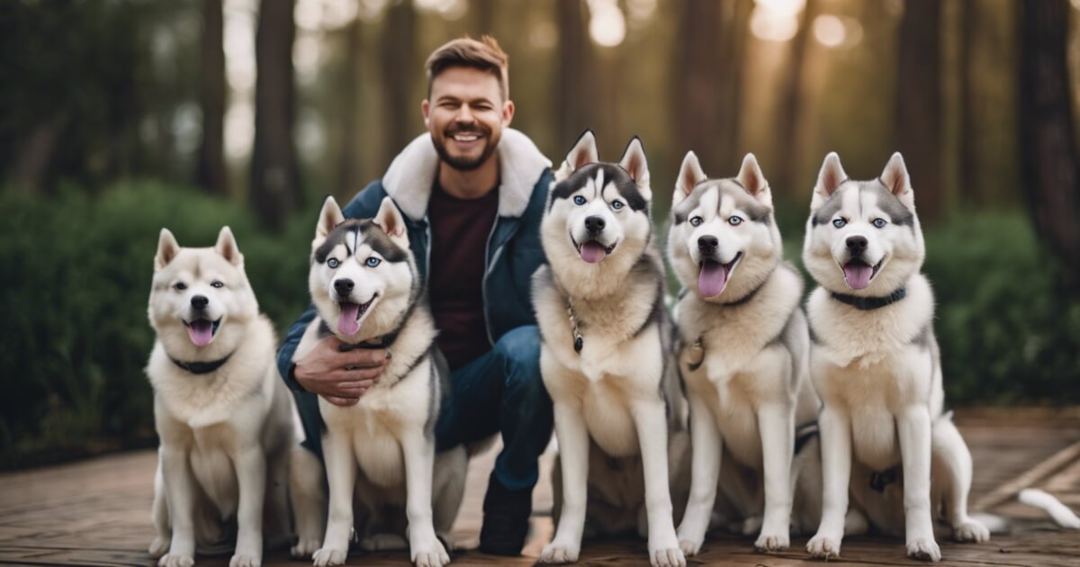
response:
<path id="1" fill-rule="evenodd" d="M 294 0 L 261 0 L 255 35 L 255 148 L 252 156 L 252 201 L 262 225 L 279 230 L 300 204 L 300 176 L 293 120 Z"/>

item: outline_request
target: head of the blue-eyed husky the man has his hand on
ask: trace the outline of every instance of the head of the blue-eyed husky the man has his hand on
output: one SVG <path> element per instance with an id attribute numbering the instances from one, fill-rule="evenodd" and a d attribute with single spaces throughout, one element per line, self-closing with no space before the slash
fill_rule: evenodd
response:
<path id="1" fill-rule="evenodd" d="M 333 197 L 319 214 L 308 286 L 319 315 L 346 342 L 393 330 L 419 295 L 405 219 L 389 198 L 375 218 L 346 220 Z"/>

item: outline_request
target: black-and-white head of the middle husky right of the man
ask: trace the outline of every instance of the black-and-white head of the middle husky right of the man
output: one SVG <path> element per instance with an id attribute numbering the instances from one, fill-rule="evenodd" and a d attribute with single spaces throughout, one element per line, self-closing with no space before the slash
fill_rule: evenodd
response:
<path id="1" fill-rule="evenodd" d="M 556 271 L 590 279 L 625 273 L 651 237 L 649 168 L 635 137 L 618 164 L 599 163 L 585 131 L 555 172 L 540 227 Z"/>

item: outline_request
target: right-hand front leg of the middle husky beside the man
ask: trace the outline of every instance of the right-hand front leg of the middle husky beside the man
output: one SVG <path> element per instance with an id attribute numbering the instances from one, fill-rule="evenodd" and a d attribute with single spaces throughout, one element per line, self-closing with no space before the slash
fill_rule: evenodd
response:
<path id="1" fill-rule="evenodd" d="M 661 401 L 640 402 L 633 408 L 645 470 L 645 507 L 649 515 L 649 562 L 653 567 L 683 567 L 686 556 L 678 545 L 672 519 L 667 478 L 667 419 Z"/>

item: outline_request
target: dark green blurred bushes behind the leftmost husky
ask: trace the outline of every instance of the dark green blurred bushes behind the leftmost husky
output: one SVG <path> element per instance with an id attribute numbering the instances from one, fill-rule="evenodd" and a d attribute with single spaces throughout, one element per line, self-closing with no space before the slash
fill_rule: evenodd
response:
<path id="1" fill-rule="evenodd" d="M 210 246 L 229 225 L 279 330 L 307 302 L 313 211 L 268 235 L 242 204 L 159 183 L 113 186 L 97 199 L 75 187 L 57 198 L 6 191 L 0 210 L 0 468 L 153 442 L 143 368 L 161 227 L 181 245 Z"/>

